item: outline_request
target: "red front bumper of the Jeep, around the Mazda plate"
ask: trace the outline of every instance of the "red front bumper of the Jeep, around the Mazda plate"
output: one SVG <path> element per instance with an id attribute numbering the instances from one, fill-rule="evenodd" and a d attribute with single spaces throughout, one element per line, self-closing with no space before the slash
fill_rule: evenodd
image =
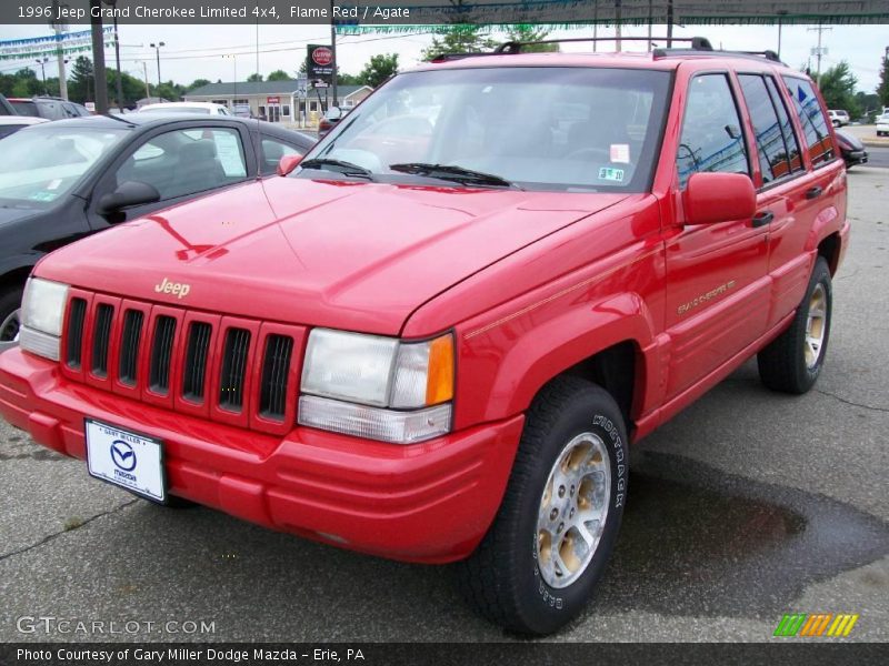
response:
<path id="1" fill-rule="evenodd" d="M 0 415 L 86 458 L 84 417 L 160 438 L 169 492 L 266 527 L 407 562 L 469 555 L 500 505 L 522 416 L 398 446 L 297 427 L 283 438 L 173 413 L 0 354 Z M 86 474 L 86 468 L 83 470 Z"/>

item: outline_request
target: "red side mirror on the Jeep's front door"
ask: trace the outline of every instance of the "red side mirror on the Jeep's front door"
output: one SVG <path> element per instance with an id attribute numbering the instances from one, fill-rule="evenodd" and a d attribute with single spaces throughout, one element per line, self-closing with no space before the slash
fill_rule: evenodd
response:
<path id="1" fill-rule="evenodd" d="M 692 173 L 682 194 L 686 224 L 750 220 L 757 210 L 753 181 L 741 173 Z"/>

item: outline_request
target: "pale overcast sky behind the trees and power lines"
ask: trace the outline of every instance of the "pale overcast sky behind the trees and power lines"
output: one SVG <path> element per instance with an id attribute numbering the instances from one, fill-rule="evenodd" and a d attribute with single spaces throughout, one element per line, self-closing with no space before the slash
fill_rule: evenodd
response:
<path id="1" fill-rule="evenodd" d="M 806 26 L 786 26 L 782 32 L 781 56 L 788 64 L 799 68 L 811 58 L 811 49 L 817 44 L 817 32 Z M 0 40 L 41 37 L 48 32 L 38 26 L 0 26 Z M 623 34 L 645 36 L 646 28 L 623 28 Z M 663 26 L 652 29 L 655 36 L 666 34 Z M 592 28 L 572 31 L 557 31 L 551 37 L 591 36 Z M 599 34 L 613 34 L 613 28 L 599 28 Z M 677 27 L 676 37 L 702 34 L 726 49 L 762 50 L 778 48 L 778 28 L 773 26 L 753 27 Z M 498 36 L 495 36 L 498 37 Z M 148 65 L 149 80 L 157 81 L 154 52 L 151 42 L 163 41 L 161 49 L 161 77 L 164 81 L 174 80 L 188 84 L 194 79 L 231 81 L 234 68 L 239 80 L 244 80 L 257 71 L 257 28 L 256 26 L 121 26 L 120 40 L 122 68 L 141 78 L 142 61 Z M 399 54 L 401 69 L 410 68 L 420 60 L 421 50 L 429 46 L 432 37 L 426 34 L 364 34 L 339 37 L 337 40 L 340 70 L 358 73 L 368 59 L 376 53 L 394 52 Z M 306 58 L 307 43 L 329 43 L 330 29 L 326 26 L 259 26 L 259 71 L 263 75 L 282 69 L 294 73 Z M 847 60 L 858 78 L 859 90 L 873 92 L 879 84 L 880 61 L 883 49 L 889 46 L 887 26 L 835 26 L 822 34 L 822 46 L 828 53 L 822 59 L 822 69 L 841 60 Z M 628 49 L 641 49 L 641 44 L 625 43 Z M 599 47 L 612 50 L 613 43 Z M 565 51 L 589 49 L 589 44 L 567 44 Z M 223 53 L 236 53 L 232 59 L 223 59 Z M 113 49 L 106 51 L 109 65 L 113 67 Z M 14 71 L 28 63 L 0 61 L 0 71 Z M 53 63 L 47 68 L 47 75 L 56 75 Z"/>

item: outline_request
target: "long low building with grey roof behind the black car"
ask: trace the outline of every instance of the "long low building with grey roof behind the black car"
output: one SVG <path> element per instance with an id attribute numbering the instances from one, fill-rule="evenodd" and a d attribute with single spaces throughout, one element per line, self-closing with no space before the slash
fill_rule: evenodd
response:
<path id="1" fill-rule="evenodd" d="M 249 104 L 254 115 L 271 122 L 314 124 L 328 105 L 351 108 L 371 93 L 369 85 L 338 85 L 337 100 L 331 89 L 310 88 L 307 79 L 287 81 L 237 81 L 209 83 L 188 92 L 187 102 L 216 102 L 229 109 Z"/>

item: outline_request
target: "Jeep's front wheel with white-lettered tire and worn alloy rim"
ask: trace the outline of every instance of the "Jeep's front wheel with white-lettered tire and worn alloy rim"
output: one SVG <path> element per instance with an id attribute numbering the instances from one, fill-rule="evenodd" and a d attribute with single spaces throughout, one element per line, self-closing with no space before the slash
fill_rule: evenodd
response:
<path id="1" fill-rule="evenodd" d="M 565 476 L 555 476 L 565 470 Z M 469 605 L 520 634 L 550 634 L 576 617 L 590 601 L 615 546 L 627 474 L 627 432 L 613 398 L 577 377 L 548 384 L 527 414 L 497 517 L 478 549 L 458 565 L 459 586 Z M 590 519 L 593 516 L 598 523 Z M 558 523 L 563 526 L 560 533 Z M 578 524 L 587 527 L 592 547 Z M 572 539 L 578 548 L 571 547 Z"/>

